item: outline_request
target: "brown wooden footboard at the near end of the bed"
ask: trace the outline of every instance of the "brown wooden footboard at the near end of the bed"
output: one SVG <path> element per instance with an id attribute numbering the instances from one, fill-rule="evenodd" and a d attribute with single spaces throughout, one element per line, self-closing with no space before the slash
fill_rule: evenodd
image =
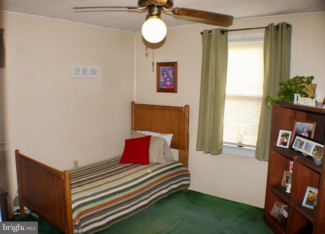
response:
<path id="1" fill-rule="evenodd" d="M 21 216 L 26 206 L 64 233 L 73 233 L 69 171 L 15 153 Z"/>

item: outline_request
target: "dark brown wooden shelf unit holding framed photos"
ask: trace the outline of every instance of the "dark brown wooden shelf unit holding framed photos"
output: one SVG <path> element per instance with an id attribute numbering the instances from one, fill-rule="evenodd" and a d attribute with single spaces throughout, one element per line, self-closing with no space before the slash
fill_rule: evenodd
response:
<path id="1" fill-rule="evenodd" d="M 271 139 L 267 188 L 264 209 L 264 222 L 274 233 L 296 234 L 299 230 L 311 224 L 313 234 L 325 233 L 325 166 L 317 166 L 309 157 L 290 149 L 295 138 L 291 136 L 289 149 L 277 147 L 279 130 L 293 131 L 295 120 L 314 121 L 316 129 L 314 139 L 324 144 L 325 139 L 325 109 L 322 106 L 307 107 L 288 103 L 277 103 L 272 106 Z M 289 162 L 294 161 L 293 183 L 291 193 L 285 192 L 281 186 L 284 171 L 289 171 Z M 316 208 L 302 206 L 307 186 L 318 188 Z M 288 217 L 285 222 L 278 222 L 270 215 L 274 202 L 288 205 Z"/>

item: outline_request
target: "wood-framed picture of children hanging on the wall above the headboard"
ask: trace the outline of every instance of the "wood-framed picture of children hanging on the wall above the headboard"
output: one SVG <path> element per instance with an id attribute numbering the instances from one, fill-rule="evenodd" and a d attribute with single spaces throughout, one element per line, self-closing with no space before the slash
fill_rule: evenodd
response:
<path id="1" fill-rule="evenodd" d="M 157 92 L 177 92 L 177 62 L 157 62 Z"/>

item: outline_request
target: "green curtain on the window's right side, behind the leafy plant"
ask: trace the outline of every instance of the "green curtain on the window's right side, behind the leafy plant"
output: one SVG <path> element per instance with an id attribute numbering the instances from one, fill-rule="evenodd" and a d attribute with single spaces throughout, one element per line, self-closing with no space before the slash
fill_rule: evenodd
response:
<path id="1" fill-rule="evenodd" d="M 276 96 L 280 80 L 290 78 L 291 29 L 286 22 L 271 23 L 265 29 L 263 102 L 269 94 Z M 255 151 L 258 160 L 269 160 L 270 132 L 271 108 L 263 103 Z"/>

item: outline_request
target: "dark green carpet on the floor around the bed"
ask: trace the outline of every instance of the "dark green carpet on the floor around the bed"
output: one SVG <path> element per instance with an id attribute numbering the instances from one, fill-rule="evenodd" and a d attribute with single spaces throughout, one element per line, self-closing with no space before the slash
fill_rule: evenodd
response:
<path id="1" fill-rule="evenodd" d="M 263 222 L 261 208 L 195 191 L 176 192 L 149 209 L 112 225 L 99 233 L 273 233 Z M 34 221 L 31 215 L 24 220 Z M 12 220 L 21 220 L 13 216 Z M 39 233 L 60 233 L 43 219 Z"/>

